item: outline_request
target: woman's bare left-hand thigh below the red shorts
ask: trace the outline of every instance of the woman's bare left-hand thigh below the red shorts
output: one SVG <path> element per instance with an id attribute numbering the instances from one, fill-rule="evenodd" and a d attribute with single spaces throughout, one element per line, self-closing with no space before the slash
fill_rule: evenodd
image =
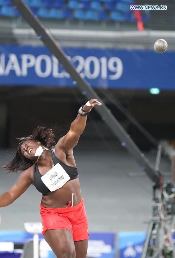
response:
<path id="1" fill-rule="evenodd" d="M 66 257 L 66 254 L 67 257 L 75 257 L 75 245 L 70 230 L 47 229 L 43 236 L 56 257 L 60 258 L 63 257 L 63 255 Z"/>

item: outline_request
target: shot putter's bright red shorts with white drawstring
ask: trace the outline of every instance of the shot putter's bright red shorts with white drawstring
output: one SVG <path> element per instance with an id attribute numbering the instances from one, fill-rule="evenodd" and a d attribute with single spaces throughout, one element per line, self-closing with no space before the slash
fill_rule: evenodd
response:
<path id="1" fill-rule="evenodd" d="M 73 234 L 73 241 L 80 241 L 89 238 L 87 215 L 84 207 L 84 200 L 76 206 L 66 208 L 45 208 L 40 204 L 42 234 L 47 229 L 67 229 Z"/>

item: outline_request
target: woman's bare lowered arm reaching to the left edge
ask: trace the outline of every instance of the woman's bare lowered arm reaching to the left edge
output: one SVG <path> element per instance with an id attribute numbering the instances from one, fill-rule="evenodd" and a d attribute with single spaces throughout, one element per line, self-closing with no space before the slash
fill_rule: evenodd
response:
<path id="1" fill-rule="evenodd" d="M 33 169 L 32 169 L 33 170 Z M 31 167 L 24 170 L 12 188 L 0 195 L 0 207 L 5 207 L 14 202 L 32 184 Z"/>

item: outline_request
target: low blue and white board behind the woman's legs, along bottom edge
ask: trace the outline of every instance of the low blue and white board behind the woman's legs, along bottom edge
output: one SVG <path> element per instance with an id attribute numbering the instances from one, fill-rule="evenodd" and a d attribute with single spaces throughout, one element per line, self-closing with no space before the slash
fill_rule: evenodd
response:
<path id="1" fill-rule="evenodd" d="M 11 242 L 14 244 L 24 244 L 28 241 L 33 240 L 33 234 L 29 234 L 24 231 L 1 231 L 0 238 L 0 257 L 1 258 L 13 258 L 20 257 L 23 252 L 20 249 L 8 250 L 8 244 L 10 246 Z M 39 234 L 39 257 L 41 258 L 51 258 L 55 257 L 49 245 L 43 239 L 42 234 Z M 7 248 L 1 251 L 1 244 L 7 243 Z M 115 249 L 115 234 L 114 233 L 91 233 L 89 234 L 87 257 L 91 258 L 114 258 Z"/>

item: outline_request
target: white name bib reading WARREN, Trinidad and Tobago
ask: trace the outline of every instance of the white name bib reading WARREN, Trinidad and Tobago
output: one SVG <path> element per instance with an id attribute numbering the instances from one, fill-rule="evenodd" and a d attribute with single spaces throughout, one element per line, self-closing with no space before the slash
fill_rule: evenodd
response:
<path id="1" fill-rule="evenodd" d="M 61 188 L 69 179 L 69 175 L 59 163 L 41 177 L 41 180 L 51 192 Z"/>

